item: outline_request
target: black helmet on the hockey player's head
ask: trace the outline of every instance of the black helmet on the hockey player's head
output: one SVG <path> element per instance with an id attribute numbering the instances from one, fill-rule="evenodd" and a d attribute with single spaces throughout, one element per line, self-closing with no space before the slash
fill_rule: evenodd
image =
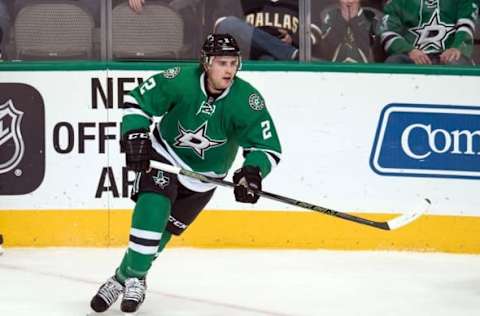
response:
<path id="1" fill-rule="evenodd" d="M 235 38 L 228 34 L 209 34 L 202 45 L 201 62 L 209 63 L 209 57 L 212 56 L 237 56 L 239 58 L 239 68 L 241 64 L 240 47 Z"/>

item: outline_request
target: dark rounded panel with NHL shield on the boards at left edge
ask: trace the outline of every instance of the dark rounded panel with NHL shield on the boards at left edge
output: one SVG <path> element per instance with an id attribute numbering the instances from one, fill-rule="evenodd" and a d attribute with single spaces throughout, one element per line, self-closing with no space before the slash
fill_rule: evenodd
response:
<path id="1" fill-rule="evenodd" d="M 42 95 L 24 83 L 0 82 L 0 200 L 35 191 L 44 176 Z"/>

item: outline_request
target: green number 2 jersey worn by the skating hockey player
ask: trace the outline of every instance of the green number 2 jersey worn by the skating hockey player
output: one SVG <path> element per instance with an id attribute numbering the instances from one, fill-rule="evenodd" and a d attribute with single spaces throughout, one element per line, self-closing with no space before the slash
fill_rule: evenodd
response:
<path id="1" fill-rule="evenodd" d="M 148 129 L 161 116 L 153 147 L 175 165 L 224 177 L 242 147 L 244 165 L 259 167 L 265 177 L 279 162 L 281 146 L 262 95 L 235 77 L 214 99 L 204 75 L 199 67 L 176 67 L 144 81 L 125 99 L 122 134 Z"/>

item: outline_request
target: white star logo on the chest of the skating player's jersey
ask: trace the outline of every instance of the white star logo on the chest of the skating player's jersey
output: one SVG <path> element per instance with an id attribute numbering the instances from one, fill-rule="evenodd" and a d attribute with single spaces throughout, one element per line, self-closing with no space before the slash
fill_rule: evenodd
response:
<path id="1" fill-rule="evenodd" d="M 199 128 L 194 131 L 187 130 L 182 127 L 180 122 L 178 123 L 178 131 L 180 134 L 175 137 L 175 147 L 190 148 L 198 157 L 204 159 L 205 151 L 213 147 L 218 147 L 226 143 L 224 140 L 211 139 L 207 135 L 208 122 L 205 121 Z"/>

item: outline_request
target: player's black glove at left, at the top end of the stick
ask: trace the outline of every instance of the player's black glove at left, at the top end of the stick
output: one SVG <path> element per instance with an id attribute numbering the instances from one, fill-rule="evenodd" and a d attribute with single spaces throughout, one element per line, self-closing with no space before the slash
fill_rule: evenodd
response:
<path id="1" fill-rule="evenodd" d="M 128 170 L 142 172 L 150 168 L 152 141 L 147 130 L 133 130 L 123 135 L 120 148 L 125 152 Z"/>

